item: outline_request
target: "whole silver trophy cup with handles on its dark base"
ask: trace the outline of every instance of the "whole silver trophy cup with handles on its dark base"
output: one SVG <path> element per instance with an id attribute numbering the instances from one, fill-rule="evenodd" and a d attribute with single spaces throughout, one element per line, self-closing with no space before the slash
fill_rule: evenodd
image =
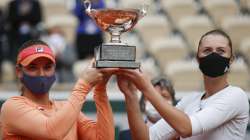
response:
<path id="1" fill-rule="evenodd" d="M 86 13 L 96 24 L 111 35 L 109 43 L 95 48 L 95 67 L 97 68 L 139 68 L 135 62 L 136 47 L 121 42 L 123 32 L 131 30 L 139 19 L 146 15 L 146 6 L 142 9 L 91 9 L 91 1 L 84 0 Z"/>

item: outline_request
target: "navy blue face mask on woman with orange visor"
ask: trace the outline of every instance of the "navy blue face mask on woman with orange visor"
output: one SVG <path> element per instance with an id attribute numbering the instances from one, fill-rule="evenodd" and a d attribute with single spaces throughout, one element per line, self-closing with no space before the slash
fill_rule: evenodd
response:
<path id="1" fill-rule="evenodd" d="M 23 73 L 22 83 L 34 94 L 48 93 L 49 89 L 55 82 L 55 75 L 52 76 L 30 76 Z"/>

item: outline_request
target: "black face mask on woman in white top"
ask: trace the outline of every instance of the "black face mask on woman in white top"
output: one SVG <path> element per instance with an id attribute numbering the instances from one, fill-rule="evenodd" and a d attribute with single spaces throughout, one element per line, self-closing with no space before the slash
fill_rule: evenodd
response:
<path id="1" fill-rule="evenodd" d="M 218 77 L 224 75 L 229 70 L 230 58 L 220 56 L 217 53 L 211 53 L 199 59 L 199 68 L 201 72 L 209 77 Z"/>

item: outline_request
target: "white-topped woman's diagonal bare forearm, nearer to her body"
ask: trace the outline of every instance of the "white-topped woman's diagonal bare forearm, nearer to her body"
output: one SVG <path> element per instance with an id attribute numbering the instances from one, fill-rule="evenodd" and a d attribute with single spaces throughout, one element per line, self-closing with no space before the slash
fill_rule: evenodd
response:
<path id="1" fill-rule="evenodd" d="M 162 118 L 167 121 L 178 134 L 182 137 L 190 136 L 192 134 L 192 126 L 188 115 L 172 105 L 166 104 L 165 100 L 159 94 L 154 94 L 156 92 L 154 88 L 149 87 L 143 93 L 161 114 Z"/>

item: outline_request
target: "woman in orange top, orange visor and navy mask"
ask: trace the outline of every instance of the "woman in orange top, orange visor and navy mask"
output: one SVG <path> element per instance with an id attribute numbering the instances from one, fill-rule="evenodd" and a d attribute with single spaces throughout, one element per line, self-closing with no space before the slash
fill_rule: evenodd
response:
<path id="1" fill-rule="evenodd" d="M 40 40 L 20 48 L 16 74 L 21 95 L 9 98 L 1 108 L 4 140 L 113 140 L 114 121 L 106 84 L 115 69 L 95 69 L 89 65 L 65 101 L 49 99 L 55 79 L 55 55 Z M 81 108 L 93 89 L 97 120 L 86 117 Z"/>

